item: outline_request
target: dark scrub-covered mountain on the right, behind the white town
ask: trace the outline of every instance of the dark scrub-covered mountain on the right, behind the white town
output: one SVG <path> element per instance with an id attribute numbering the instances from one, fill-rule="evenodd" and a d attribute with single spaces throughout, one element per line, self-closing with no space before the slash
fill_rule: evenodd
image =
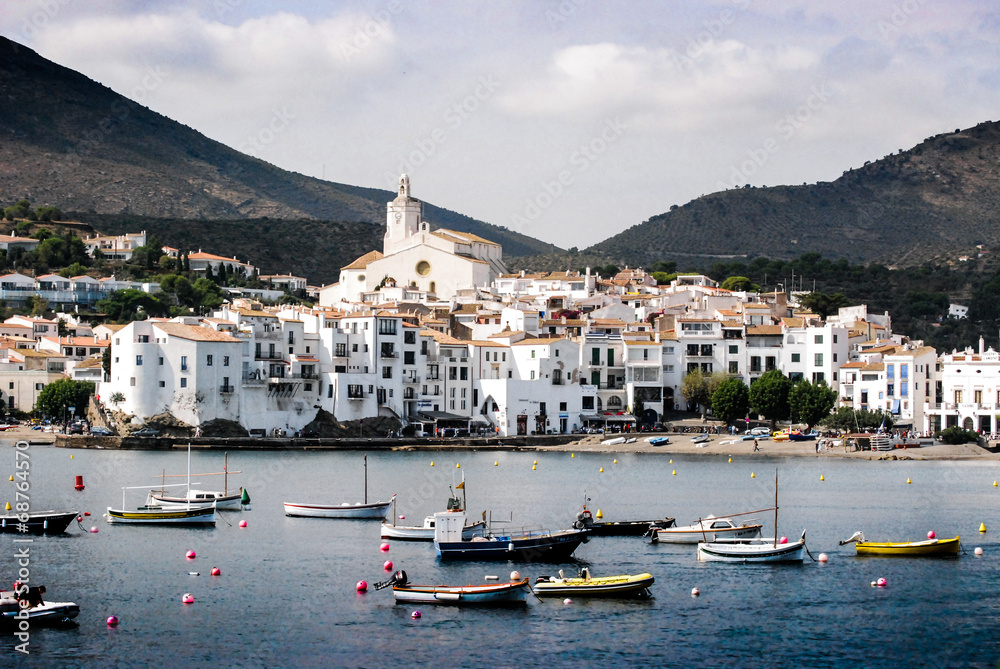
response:
<path id="1" fill-rule="evenodd" d="M 692 200 L 585 252 L 632 266 L 808 252 L 912 265 L 1000 242 L 1000 124 L 930 137 L 829 183 Z"/>

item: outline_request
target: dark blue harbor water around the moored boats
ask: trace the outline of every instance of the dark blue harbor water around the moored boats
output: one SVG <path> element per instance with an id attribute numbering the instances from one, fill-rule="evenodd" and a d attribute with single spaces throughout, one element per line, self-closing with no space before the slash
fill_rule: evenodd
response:
<path id="1" fill-rule="evenodd" d="M 724 448 L 724 447 L 721 447 Z M 14 502 L 14 449 L 4 445 L 0 503 Z M 694 546 L 639 537 L 593 538 L 575 562 L 440 562 L 433 545 L 390 542 L 377 521 L 289 518 L 282 502 L 355 503 L 363 452 L 232 452 L 230 486 L 251 510 L 220 512 L 215 528 L 108 525 L 122 486 L 187 471 L 187 452 L 74 451 L 33 445 L 33 510 L 91 512 L 87 529 L 34 537 L 30 579 L 47 599 L 74 601 L 69 629 L 32 629 L 28 650 L 3 637 L 3 666 L 225 667 L 995 667 L 1000 661 L 1000 464 L 752 458 L 728 454 L 406 451 L 368 454 L 368 499 L 397 494 L 396 515 L 419 525 L 445 508 L 465 477 L 468 510 L 498 528 L 569 527 L 589 499 L 605 520 L 671 516 L 681 525 L 773 505 L 778 536 L 806 530 L 802 565 L 701 563 Z M 615 462 L 617 460 L 617 462 Z M 537 461 L 537 465 L 534 463 Z M 431 466 L 433 462 L 434 466 Z M 223 454 L 195 450 L 195 473 L 222 471 Z M 534 467 L 534 469 L 533 469 Z M 603 468 L 603 472 L 600 470 Z M 751 476 L 753 474 L 753 476 Z M 73 489 L 83 476 L 86 489 Z M 824 480 L 820 480 L 820 477 Z M 911 483 L 907 483 L 907 479 Z M 195 477 L 220 489 L 222 477 Z M 177 479 L 175 479 L 177 481 Z M 127 507 L 143 503 L 127 491 Z M 773 514 L 763 512 L 766 534 Z M 247 527 L 240 528 L 239 521 Z M 980 523 L 988 531 L 980 533 Z M 960 535 L 956 559 L 859 558 L 839 546 L 855 531 L 912 541 Z M 15 580 L 15 546 L 0 535 L 0 582 Z M 975 547 L 983 555 L 973 555 Z M 197 558 L 189 560 L 189 550 Z M 355 592 L 404 569 L 411 582 L 466 585 L 518 570 L 532 581 L 559 569 L 649 572 L 648 600 L 529 596 L 516 609 L 396 605 L 391 590 Z M 212 577 L 213 567 L 221 576 Z M 190 575 L 197 572 L 199 575 Z M 885 578 L 888 586 L 870 584 Z M 5 585 L 6 587 L 6 585 Z M 701 594 L 692 597 L 692 588 Z M 184 593 L 195 603 L 182 604 Z M 415 608 L 422 617 L 411 618 Z M 116 615 L 120 624 L 105 621 Z"/>

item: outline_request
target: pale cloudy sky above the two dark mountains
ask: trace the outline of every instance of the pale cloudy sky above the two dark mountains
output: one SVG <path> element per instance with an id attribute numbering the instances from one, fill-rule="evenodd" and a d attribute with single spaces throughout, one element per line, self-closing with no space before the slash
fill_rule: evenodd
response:
<path id="1" fill-rule="evenodd" d="M 563 248 L 1000 118 L 991 0 L 5 0 L 0 34 L 284 169 L 405 172 Z"/>

